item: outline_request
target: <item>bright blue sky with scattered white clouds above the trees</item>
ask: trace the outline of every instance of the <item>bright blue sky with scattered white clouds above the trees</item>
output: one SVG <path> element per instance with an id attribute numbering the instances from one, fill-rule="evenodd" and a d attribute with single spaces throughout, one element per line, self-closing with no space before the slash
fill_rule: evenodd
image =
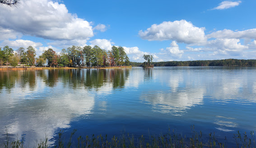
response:
<path id="1" fill-rule="evenodd" d="M 20 0 L 0 47 L 124 47 L 130 61 L 256 59 L 256 0 Z"/>

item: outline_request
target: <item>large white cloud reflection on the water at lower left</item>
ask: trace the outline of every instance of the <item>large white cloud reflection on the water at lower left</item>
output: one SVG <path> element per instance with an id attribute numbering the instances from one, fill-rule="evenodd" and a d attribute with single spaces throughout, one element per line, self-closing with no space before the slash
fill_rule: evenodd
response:
<path id="1" fill-rule="evenodd" d="M 5 100 L 10 104 L 8 99 Z M 44 139 L 45 133 L 51 139 L 56 129 L 69 128 L 76 117 L 90 115 L 94 103 L 93 95 L 84 91 L 52 94 L 45 99 L 23 98 L 1 111 L 0 118 L 5 120 L 0 122 L 0 127 L 6 126 L 11 134 L 26 134 L 26 140 L 30 142 Z"/>

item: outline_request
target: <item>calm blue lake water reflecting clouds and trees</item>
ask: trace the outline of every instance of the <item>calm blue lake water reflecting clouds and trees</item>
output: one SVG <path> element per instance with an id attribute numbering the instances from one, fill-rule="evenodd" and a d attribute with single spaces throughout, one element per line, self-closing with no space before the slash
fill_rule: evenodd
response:
<path id="1" fill-rule="evenodd" d="M 38 69 L 0 71 L 0 142 L 6 130 L 54 143 L 68 135 L 167 133 L 232 144 L 237 130 L 256 130 L 256 67 Z"/>

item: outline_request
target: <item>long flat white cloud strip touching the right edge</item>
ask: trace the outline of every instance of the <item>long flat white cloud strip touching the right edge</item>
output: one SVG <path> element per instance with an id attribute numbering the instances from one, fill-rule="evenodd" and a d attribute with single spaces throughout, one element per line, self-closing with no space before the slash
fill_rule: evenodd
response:
<path id="1" fill-rule="evenodd" d="M 219 30 L 213 33 L 206 35 L 208 38 L 249 38 L 249 39 L 256 39 L 256 28 L 248 29 L 244 31 L 232 31 L 228 29 Z"/>

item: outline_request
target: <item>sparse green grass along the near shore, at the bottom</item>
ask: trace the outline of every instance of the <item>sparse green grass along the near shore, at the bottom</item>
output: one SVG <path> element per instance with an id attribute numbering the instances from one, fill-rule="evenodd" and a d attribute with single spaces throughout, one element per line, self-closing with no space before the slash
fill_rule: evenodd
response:
<path id="1" fill-rule="evenodd" d="M 49 145 L 49 139 L 40 140 L 33 148 L 255 148 L 254 132 L 247 134 L 240 133 L 233 135 L 234 145 L 228 145 L 228 139 L 223 137 L 223 141 L 219 142 L 214 133 L 210 133 L 208 137 L 203 137 L 202 132 L 197 133 L 194 127 L 191 127 L 191 136 L 186 137 L 182 134 L 176 134 L 168 131 L 168 134 L 160 134 L 159 136 L 144 135 L 134 137 L 129 134 L 122 134 L 120 137 L 113 136 L 108 138 L 107 135 L 79 136 L 74 138 L 76 130 L 70 134 L 69 138 L 63 136 L 63 131 L 57 135 L 54 145 Z M 204 139 L 204 140 L 203 140 Z M 208 139 L 208 140 L 205 140 Z M 6 140 L 0 144 L 0 148 L 25 148 L 23 138 L 15 141 L 9 141 L 9 135 L 6 134 Z"/>

